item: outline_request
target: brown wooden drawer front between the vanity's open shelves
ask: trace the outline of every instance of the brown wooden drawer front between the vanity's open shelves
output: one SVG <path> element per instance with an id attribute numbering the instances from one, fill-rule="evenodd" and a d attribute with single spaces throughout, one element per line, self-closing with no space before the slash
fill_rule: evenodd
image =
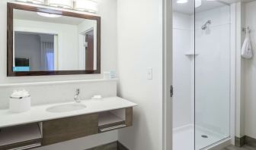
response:
<path id="1" fill-rule="evenodd" d="M 43 122 L 43 145 L 98 133 L 98 114 L 86 114 Z"/>

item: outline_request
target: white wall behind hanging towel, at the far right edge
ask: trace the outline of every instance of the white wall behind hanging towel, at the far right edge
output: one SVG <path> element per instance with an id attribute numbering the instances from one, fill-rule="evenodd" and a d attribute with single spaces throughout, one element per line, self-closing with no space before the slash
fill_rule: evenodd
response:
<path id="1" fill-rule="evenodd" d="M 242 86 L 245 98 L 245 135 L 256 139 L 256 2 L 245 3 L 245 27 L 251 28 L 251 45 L 254 57 L 251 60 L 243 60 L 244 86 Z"/>

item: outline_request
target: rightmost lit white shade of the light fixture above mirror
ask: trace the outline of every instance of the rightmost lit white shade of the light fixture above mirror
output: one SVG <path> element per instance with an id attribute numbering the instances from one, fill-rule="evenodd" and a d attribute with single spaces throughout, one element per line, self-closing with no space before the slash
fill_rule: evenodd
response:
<path id="1" fill-rule="evenodd" d="M 75 0 L 75 10 L 97 13 L 98 3 L 92 0 Z"/>

